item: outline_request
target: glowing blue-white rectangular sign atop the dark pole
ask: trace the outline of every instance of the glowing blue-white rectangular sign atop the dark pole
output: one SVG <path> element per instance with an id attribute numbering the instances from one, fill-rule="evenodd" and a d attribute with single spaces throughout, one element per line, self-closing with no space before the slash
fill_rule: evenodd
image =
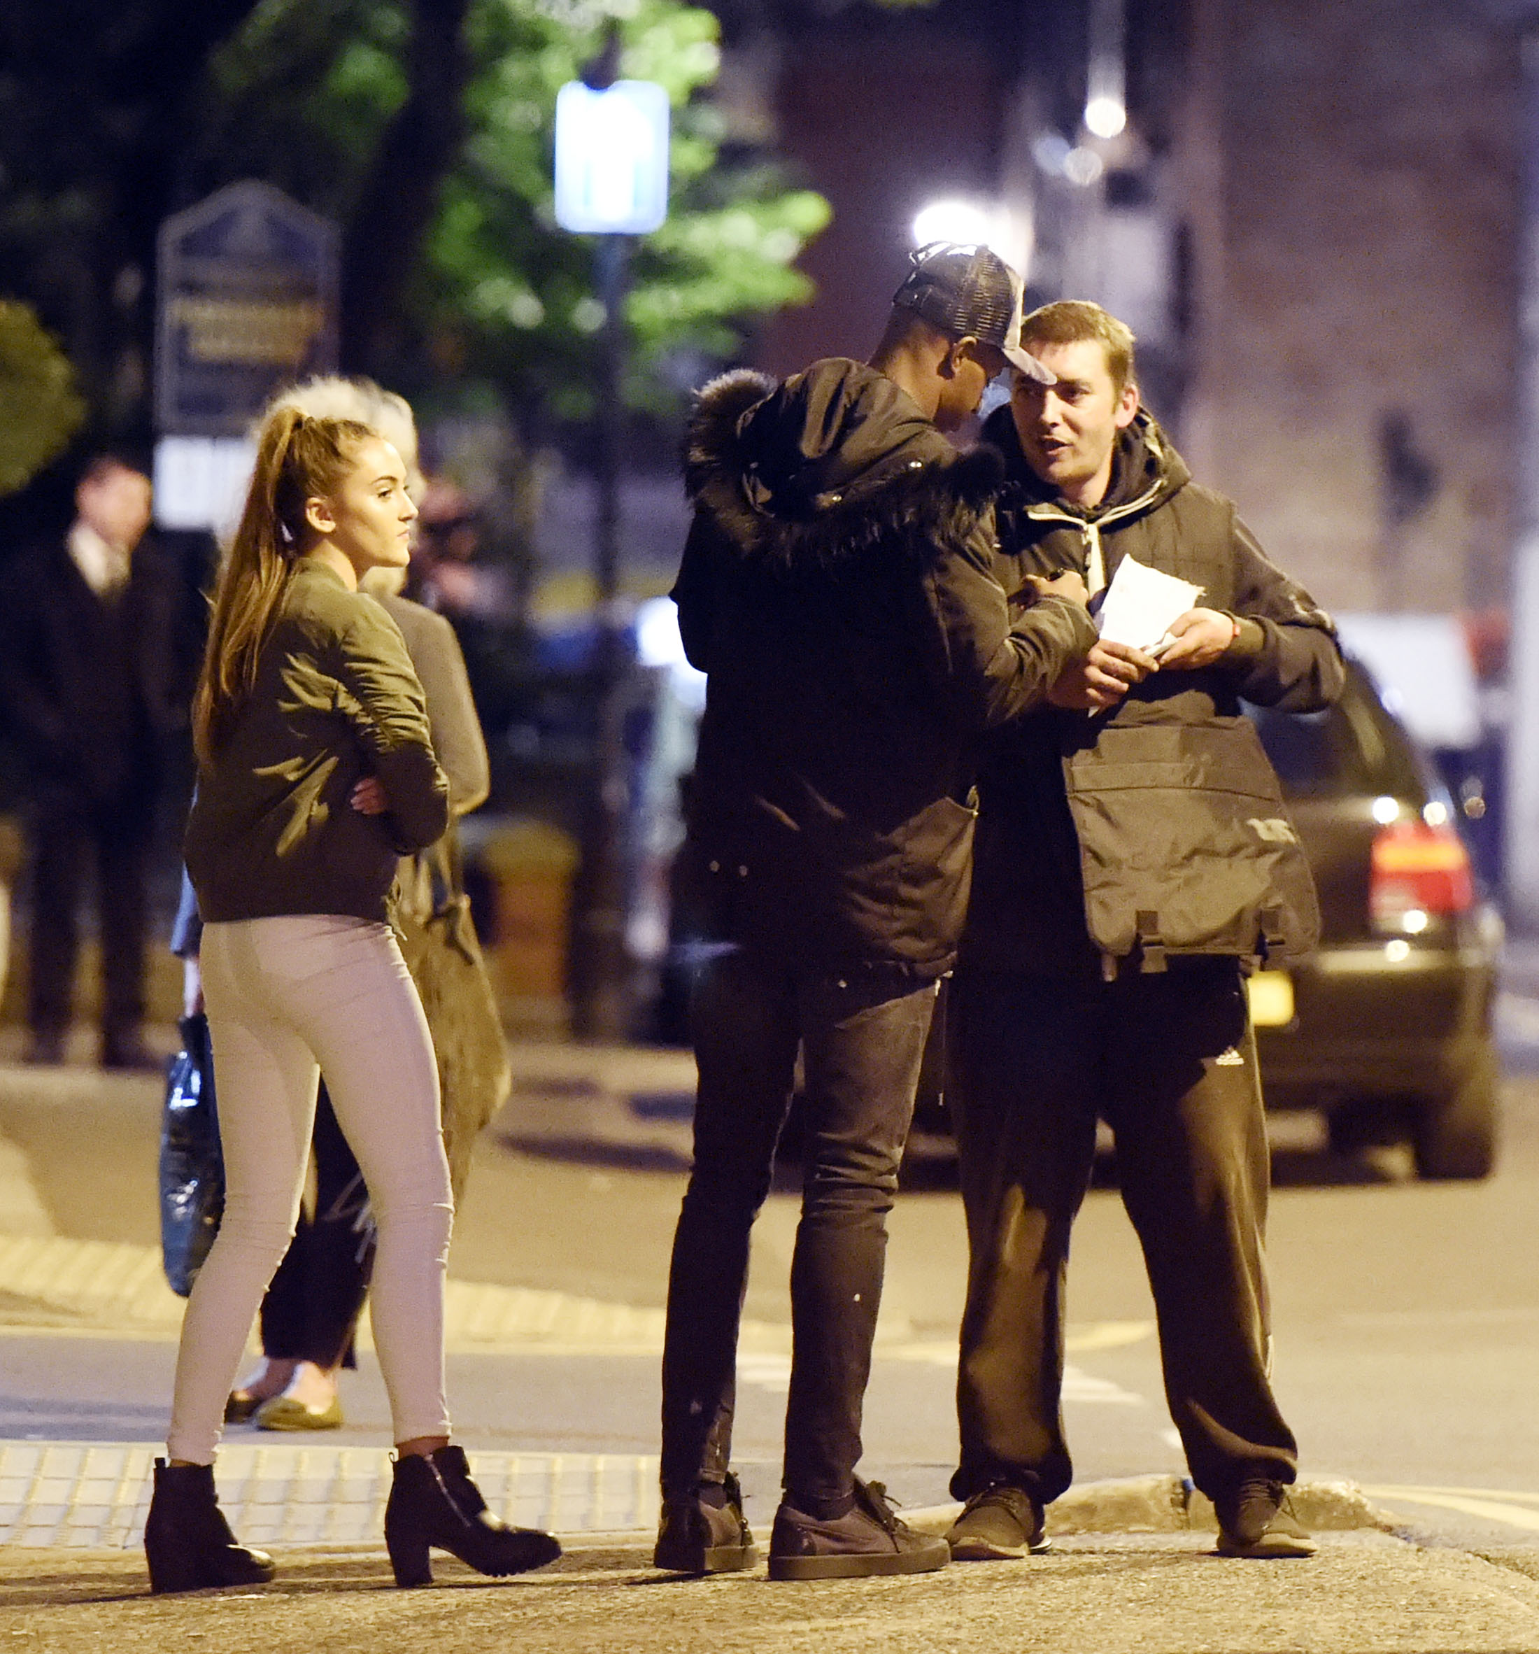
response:
<path id="1" fill-rule="evenodd" d="M 579 235 L 646 235 L 668 217 L 668 93 L 582 81 L 555 98 L 555 222 Z"/>

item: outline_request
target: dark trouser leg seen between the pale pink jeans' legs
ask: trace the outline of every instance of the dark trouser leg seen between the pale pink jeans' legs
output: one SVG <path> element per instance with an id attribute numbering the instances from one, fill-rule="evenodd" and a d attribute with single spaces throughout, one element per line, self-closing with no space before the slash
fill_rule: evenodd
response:
<path id="1" fill-rule="evenodd" d="M 299 1212 L 294 1239 L 261 1300 L 261 1353 L 324 1368 L 345 1358 L 352 1366 L 352 1333 L 374 1269 L 374 1224 L 360 1222 L 369 1191 L 324 1082 L 311 1150 L 316 1209 L 312 1216 Z"/>

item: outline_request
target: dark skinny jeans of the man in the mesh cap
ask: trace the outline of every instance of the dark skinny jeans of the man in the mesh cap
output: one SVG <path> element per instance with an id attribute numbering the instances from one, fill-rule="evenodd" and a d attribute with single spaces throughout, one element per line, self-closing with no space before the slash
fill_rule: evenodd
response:
<path id="1" fill-rule="evenodd" d="M 886 1214 L 934 1004 L 934 982 L 803 974 L 744 953 L 714 961 L 696 984 L 694 1169 L 673 1242 L 663 1350 L 665 1495 L 721 1482 L 727 1470 L 749 1231 L 769 1194 L 800 1047 L 807 1148 L 790 1269 L 784 1480 L 813 1508 L 848 1497 Z"/>

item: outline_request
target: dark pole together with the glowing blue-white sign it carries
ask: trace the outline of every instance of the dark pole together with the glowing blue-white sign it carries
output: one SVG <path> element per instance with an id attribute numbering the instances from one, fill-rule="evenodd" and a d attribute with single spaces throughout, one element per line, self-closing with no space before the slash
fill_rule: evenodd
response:
<path id="1" fill-rule="evenodd" d="M 588 660 L 597 711 L 593 758 L 574 892 L 572 1019 L 584 1039 L 630 1032 L 625 951 L 625 820 L 628 777 L 620 690 L 625 638 L 620 615 L 620 458 L 625 435 L 625 280 L 630 240 L 668 215 L 668 93 L 651 81 L 618 78 L 620 40 L 555 101 L 555 222 L 595 235 L 595 286 L 603 304 L 595 428 L 593 587 L 595 635 Z"/>

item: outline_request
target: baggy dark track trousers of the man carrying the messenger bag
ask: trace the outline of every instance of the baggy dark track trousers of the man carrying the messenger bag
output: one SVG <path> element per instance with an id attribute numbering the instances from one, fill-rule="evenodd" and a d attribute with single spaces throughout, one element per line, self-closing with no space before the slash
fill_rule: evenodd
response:
<path id="1" fill-rule="evenodd" d="M 952 1494 L 1010 1482 L 1050 1502 L 1070 1485 L 1065 1277 L 1098 1116 L 1116 1133 L 1192 1479 L 1210 1497 L 1246 1474 L 1291 1482 L 1298 1451 L 1268 1376 L 1270 1159 L 1238 964 L 1182 959 L 1116 982 L 959 973 L 947 1035 L 970 1250 Z"/>

